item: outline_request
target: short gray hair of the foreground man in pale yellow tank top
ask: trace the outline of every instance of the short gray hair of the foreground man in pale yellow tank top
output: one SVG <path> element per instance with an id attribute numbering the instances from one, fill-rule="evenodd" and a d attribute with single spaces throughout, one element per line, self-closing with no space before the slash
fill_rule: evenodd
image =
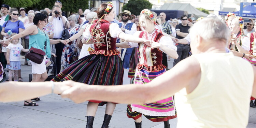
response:
<path id="1" fill-rule="evenodd" d="M 191 37 L 195 37 L 195 35 L 199 35 L 204 40 L 225 40 L 228 41 L 228 36 L 230 31 L 226 24 L 218 19 L 207 17 L 196 22 L 189 30 L 191 33 Z"/>

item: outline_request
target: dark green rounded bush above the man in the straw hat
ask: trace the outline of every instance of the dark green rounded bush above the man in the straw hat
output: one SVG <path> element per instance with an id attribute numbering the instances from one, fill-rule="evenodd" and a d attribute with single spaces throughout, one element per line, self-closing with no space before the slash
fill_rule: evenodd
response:
<path id="1" fill-rule="evenodd" d="M 127 4 L 123 6 L 123 11 L 128 10 L 131 14 L 140 15 L 143 9 L 152 9 L 153 4 L 147 0 L 129 0 Z"/>

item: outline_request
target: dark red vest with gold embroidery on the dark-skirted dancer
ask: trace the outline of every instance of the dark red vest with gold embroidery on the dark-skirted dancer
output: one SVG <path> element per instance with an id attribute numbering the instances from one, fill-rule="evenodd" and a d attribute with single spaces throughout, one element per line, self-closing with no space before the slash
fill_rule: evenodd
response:
<path id="1" fill-rule="evenodd" d="M 94 50 L 90 54 L 103 54 L 104 56 L 118 55 L 116 50 L 116 38 L 112 38 L 109 32 L 109 23 L 106 20 L 102 20 L 97 24 L 93 24 L 90 27 L 90 33 L 93 37 Z M 93 30 L 93 32 L 92 32 Z"/>

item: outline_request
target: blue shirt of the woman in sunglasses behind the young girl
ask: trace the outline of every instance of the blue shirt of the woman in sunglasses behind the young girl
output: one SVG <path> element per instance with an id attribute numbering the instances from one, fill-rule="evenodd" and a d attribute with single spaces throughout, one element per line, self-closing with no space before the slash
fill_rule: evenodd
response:
<path id="1" fill-rule="evenodd" d="M 18 22 L 19 22 L 19 25 L 18 25 Z M 19 28 L 22 28 L 22 29 L 25 29 L 24 27 L 24 24 L 22 21 L 18 20 L 16 22 L 11 22 L 11 20 L 8 20 L 8 23 L 7 21 L 3 23 L 3 28 L 4 28 L 4 32 L 8 32 L 9 30 L 12 29 L 12 32 L 15 32 L 15 33 L 19 33 Z"/>

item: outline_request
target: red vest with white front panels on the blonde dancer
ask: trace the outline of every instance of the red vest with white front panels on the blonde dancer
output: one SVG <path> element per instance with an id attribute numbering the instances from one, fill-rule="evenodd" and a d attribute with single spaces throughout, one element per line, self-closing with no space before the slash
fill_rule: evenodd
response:
<path id="1" fill-rule="evenodd" d="M 145 38 L 146 32 L 140 33 L 140 38 Z M 159 43 L 160 38 L 163 36 L 161 32 L 156 34 L 155 42 Z M 137 65 L 137 69 L 145 69 L 147 72 L 158 72 L 166 68 L 162 64 L 162 51 L 159 48 L 152 49 L 151 47 L 145 45 L 144 43 L 139 43 L 139 51 L 140 51 L 140 62 Z"/>

